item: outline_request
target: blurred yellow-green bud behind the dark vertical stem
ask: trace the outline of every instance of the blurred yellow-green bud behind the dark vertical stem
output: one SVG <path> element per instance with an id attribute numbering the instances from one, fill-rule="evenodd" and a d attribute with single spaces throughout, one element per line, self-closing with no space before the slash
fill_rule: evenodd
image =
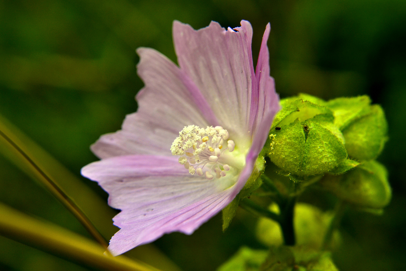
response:
<path id="1" fill-rule="evenodd" d="M 279 213 L 279 207 L 271 204 L 269 210 Z M 313 249 L 322 247 L 323 238 L 327 228 L 333 219 L 332 212 L 322 212 L 319 208 L 310 204 L 298 203 L 294 212 L 294 229 L 296 244 L 305 245 Z M 257 238 L 264 245 L 282 245 L 283 237 L 279 223 L 266 217 L 261 217 L 257 224 Z M 340 234 L 338 230 L 333 232 L 333 247 L 339 245 Z"/>

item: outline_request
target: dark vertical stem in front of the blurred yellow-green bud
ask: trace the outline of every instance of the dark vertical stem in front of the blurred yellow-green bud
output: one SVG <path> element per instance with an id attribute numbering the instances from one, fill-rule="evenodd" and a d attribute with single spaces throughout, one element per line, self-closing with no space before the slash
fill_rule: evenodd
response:
<path id="1" fill-rule="evenodd" d="M 296 204 L 296 197 L 291 197 L 279 204 L 281 210 L 281 219 L 279 225 L 281 225 L 283 240 L 285 245 L 295 245 L 295 230 L 293 225 L 294 208 Z"/>

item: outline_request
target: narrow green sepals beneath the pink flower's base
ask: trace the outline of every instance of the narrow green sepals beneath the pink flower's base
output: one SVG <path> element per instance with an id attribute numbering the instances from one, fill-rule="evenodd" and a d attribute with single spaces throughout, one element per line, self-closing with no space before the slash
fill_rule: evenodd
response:
<path id="1" fill-rule="evenodd" d="M 255 190 L 257 190 L 262 185 L 262 179 L 259 178 L 265 169 L 265 159 L 263 156 L 258 156 L 257 160 L 255 161 L 254 169 L 251 173 L 251 176 L 248 178 L 247 182 L 245 183 L 244 187 L 241 189 L 240 193 L 235 196 L 232 202 L 230 202 L 223 210 L 222 210 L 222 218 L 223 218 L 223 231 L 227 230 L 229 227 L 231 220 L 233 220 L 235 216 L 235 212 L 237 211 L 238 204 L 240 203 L 240 199 L 244 197 L 249 197 Z"/>

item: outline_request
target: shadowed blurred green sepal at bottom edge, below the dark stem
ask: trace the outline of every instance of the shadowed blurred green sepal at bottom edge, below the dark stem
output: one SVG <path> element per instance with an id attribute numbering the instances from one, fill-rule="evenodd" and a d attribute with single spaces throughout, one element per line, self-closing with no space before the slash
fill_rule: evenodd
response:
<path id="1" fill-rule="evenodd" d="M 271 247 L 259 271 L 338 271 L 327 251 L 307 247 Z"/>

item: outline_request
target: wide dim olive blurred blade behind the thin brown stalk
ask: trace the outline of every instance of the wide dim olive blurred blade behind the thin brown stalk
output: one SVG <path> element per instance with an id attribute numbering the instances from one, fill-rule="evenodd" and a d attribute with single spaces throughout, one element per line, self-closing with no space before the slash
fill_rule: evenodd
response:
<path id="1" fill-rule="evenodd" d="M 37 143 L 32 141 L 17 127 L 11 124 L 6 118 L 0 115 L 0 130 L 10 137 L 34 162 L 50 176 L 58 186 L 65 191 L 71 199 L 83 210 L 87 217 L 93 222 L 97 230 L 109 240 L 117 232 L 112 224 L 112 217 L 116 212 L 107 203 L 91 190 L 86 184 L 66 169 L 55 158 L 43 150 Z M 24 171 L 34 180 L 39 181 L 41 176 L 24 157 L 19 154 L 9 143 L 0 137 L 0 153 L 6 156 L 19 169 Z M 164 255 L 153 244 L 143 245 L 128 251 L 127 256 L 138 258 L 155 267 L 179 271 L 166 255 Z"/>

